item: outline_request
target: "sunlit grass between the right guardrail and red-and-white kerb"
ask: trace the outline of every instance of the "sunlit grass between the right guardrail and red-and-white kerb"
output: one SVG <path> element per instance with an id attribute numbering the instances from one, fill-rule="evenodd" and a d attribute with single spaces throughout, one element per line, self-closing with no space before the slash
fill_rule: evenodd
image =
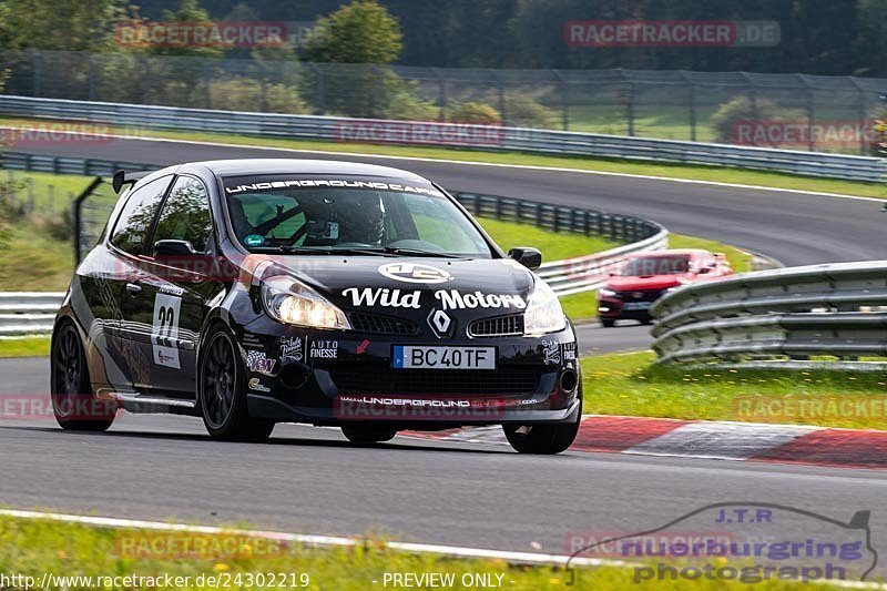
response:
<path id="1" fill-rule="evenodd" d="M 887 373 L 687 369 L 654 359 L 651 351 L 584 358 L 584 411 L 887 429 Z"/>

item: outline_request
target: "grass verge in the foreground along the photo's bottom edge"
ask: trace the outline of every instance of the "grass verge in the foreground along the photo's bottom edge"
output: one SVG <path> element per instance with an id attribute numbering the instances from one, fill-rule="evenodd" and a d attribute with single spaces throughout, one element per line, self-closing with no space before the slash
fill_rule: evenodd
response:
<path id="1" fill-rule="evenodd" d="M 501 560 L 459 560 L 440 558 L 430 554 L 407 554 L 384 548 L 381 543 L 369 541 L 348 549 L 312 549 L 298 544 L 289 547 L 279 543 L 262 544 L 255 540 L 241 546 L 242 541 L 231 534 L 208 537 L 205 534 L 193 536 L 188 533 L 145 532 L 139 530 L 94 528 L 77 523 L 60 523 L 40 519 L 21 519 L 0 517 L 0 572 L 34 577 L 39 584 L 44 573 L 63 577 L 188 577 L 190 581 L 181 580 L 175 587 L 184 589 L 210 589 L 206 577 L 224 577 L 236 582 L 237 577 L 247 573 L 286 573 L 287 587 L 302 589 L 337 589 L 343 591 L 364 590 L 378 587 L 394 587 L 389 581 L 384 584 L 385 573 L 452 573 L 457 583 L 448 589 L 473 589 L 459 584 L 461 577 L 467 573 L 483 573 L 502 575 L 500 589 L 562 589 L 569 580 L 568 573 L 553 567 L 520 567 L 510 565 Z M 133 548 L 150 548 L 157 541 L 171 541 L 179 544 L 197 543 L 210 546 L 237 542 L 236 556 L 227 557 L 176 557 L 170 554 L 152 554 L 149 552 L 133 556 Z M 555 549 L 562 552 L 562 549 Z M 289 573 L 295 574 L 295 584 L 289 582 Z M 299 579 L 300 573 L 308 575 L 307 581 Z M 196 584 L 200 575 L 204 575 L 204 584 Z M 697 589 L 703 591 L 736 588 L 747 589 L 747 584 L 728 583 L 717 580 L 700 580 L 689 582 L 646 582 L 634 583 L 632 569 L 616 569 L 601 567 L 581 569 L 575 572 L 573 589 L 594 589 L 610 591 L 616 589 Z M 267 581 L 267 579 L 266 579 Z M 374 583 L 374 581 L 377 581 Z M 92 581 L 96 588 L 98 581 Z M 123 582 L 123 581 L 121 581 Z M 136 581 L 129 581 L 134 583 Z M 144 581 L 143 581 L 144 582 Z M 257 582 L 254 580 L 254 582 Z M 307 582 L 307 585 L 302 587 Z M 184 584 L 183 584 L 184 583 Z M 243 584 L 234 588 L 257 589 L 258 584 L 248 584 L 246 578 Z M 797 583 L 786 581 L 766 582 L 756 589 L 788 590 L 796 589 Z M 23 585 L 19 585 L 23 587 Z M 52 585 L 59 588 L 61 585 Z M 70 584 L 70 588 L 85 588 L 84 581 L 80 584 Z M 129 589 L 143 589 L 145 585 L 129 584 Z M 160 589 L 161 585 L 156 585 Z M 265 587 L 268 588 L 268 587 Z M 432 587 L 420 587 L 431 589 Z M 826 589 L 825 587 L 823 587 Z M 570 589 L 570 588 L 568 588 Z"/>

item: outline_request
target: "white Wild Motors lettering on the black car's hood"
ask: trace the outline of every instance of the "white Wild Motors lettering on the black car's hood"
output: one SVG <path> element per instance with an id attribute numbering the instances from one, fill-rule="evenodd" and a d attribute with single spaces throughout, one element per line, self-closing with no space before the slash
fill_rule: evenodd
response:
<path id="1" fill-rule="evenodd" d="M 387 287 L 348 287 L 341 295 L 351 299 L 353 306 L 368 306 L 383 308 L 420 308 L 422 292 L 401 292 L 400 289 L 388 289 Z M 482 292 L 462 293 L 458 289 L 438 289 L 434 298 L 440 303 L 440 307 L 448 309 L 475 309 L 475 308 L 507 308 L 523 309 L 527 302 L 519 295 L 511 294 L 485 294 Z"/>

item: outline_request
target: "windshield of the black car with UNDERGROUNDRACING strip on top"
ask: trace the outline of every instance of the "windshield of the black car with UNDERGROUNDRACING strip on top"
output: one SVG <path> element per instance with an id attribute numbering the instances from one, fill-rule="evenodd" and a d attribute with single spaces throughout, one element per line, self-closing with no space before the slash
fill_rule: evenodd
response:
<path id="1" fill-rule="evenodd" d="M 492 256 L 470 220 L 427 183 L 264 175 L 224 185 L 237 241 L 251 252 Z"/>

